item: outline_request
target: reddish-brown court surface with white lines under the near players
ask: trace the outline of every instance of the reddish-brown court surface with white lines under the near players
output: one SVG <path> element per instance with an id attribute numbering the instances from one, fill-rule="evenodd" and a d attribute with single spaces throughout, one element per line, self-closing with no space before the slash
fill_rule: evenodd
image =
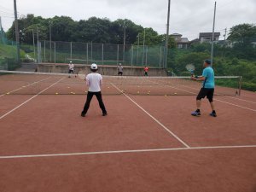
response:
<path id="1" fill-rule="evenodd" d="M 207 100 L 192 117 L 195 96 L 129 94 L 103 96 L 106 117 L 93 98 L 82 118 L 85 96 L 38 95 L 65 80 L 0 96 L 0 191 L 256 191 L 255 93 L 215 96 L 217 118 Z"/>

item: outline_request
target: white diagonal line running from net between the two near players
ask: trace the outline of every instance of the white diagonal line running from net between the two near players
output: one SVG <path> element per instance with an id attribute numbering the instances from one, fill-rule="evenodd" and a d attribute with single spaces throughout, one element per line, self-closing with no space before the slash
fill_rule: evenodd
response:
<path id="1" fill-rule="evenodd" d="M 112 84 L 112 83 L 111 83 Z M 117 86 L 115 86 L 114 84 L 112 84 L 113 87 L 117 90 L 119 90 L 119 88 Z M 177 137 L 172 131 L 170 131 L 165 125 L 161 124 L 160 121 L 158 119 L 155 119 L 154 116 L 152 116 L 150 113 L 148 113 L 143 107 L 141 107 L 139 104 L 137 104 L 137 102 L 135 102 L 134 100 L 131 99 L 130 96 L 127 96 L 122 90 L 119 90 L 120 93 L 122 93 L 124 96 L 126 96 L 131 102 L 133 102 L 135 105 L 137 105 L 138 108 L 142 109 L 144 113 L 147 113 L 149 117 L 151 117 L 152 119 L 154 119 L 154 121 L 156 123 L 158 123 L 162 128 L 164 128 L 167 132 L 169 132 L 172 137 L 175 137 L 180 143 L 183 143 L 183 145 L 186 148 L 190 148 L 189 145 L 187 143 L 184 143 L 183 140 L 181 140 L 179 137 Z"/>

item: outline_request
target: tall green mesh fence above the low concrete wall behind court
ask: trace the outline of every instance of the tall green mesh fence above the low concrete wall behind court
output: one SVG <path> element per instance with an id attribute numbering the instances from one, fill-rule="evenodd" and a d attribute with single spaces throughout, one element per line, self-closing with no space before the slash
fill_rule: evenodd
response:
<path id="1" fill-rule="evenodd" d="M 26 45 L 29 46 L 29 45 Z M 32 46 L 30 46 L 32 50 Z M 164 67 L 165 49 L 163 46 L 131 44 L 96 44 L 41 41 L 34 53 L 37 60 L 50 63 L 117 65 L 134 67 Z"/>

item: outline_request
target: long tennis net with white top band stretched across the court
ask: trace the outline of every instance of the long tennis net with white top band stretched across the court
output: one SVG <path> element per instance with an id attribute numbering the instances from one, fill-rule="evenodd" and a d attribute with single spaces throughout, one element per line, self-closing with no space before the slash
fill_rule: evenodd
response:
<path id="1" fill-rule="evenodd" d="M 241 79 L 236 76 L 215 77 L 215 95 L 240 94 Z M 102 94 L 137 96 L 197 95 L 201 82 L 190 77 L 103 76 Z M 85 95 L 85 81 L 75 74 L 34 73 L 0 70 L 0 95 Z"/>

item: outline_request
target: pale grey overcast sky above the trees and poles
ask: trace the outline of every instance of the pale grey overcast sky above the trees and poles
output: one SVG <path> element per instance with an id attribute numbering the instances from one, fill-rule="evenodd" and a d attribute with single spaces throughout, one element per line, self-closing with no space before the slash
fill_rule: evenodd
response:
<path id="1" fill-rule="evenodd" d="M 166 33 L 168 0 L 17 0 L 19 15 L 44 18 L 66 15 L 73 20 L 92 16 L 110 20 L 129 19 L 137 25 Z M 14 20 L 13 0 L 0 0 L 0 16 L 5 31 Z M 193 40 L 199 32 L 212 32 L 214 0 L 172 0 L 170 33 Z M 256 24 L 256 0 L 218 0 L 215 32 L 241 23 Z"/>

